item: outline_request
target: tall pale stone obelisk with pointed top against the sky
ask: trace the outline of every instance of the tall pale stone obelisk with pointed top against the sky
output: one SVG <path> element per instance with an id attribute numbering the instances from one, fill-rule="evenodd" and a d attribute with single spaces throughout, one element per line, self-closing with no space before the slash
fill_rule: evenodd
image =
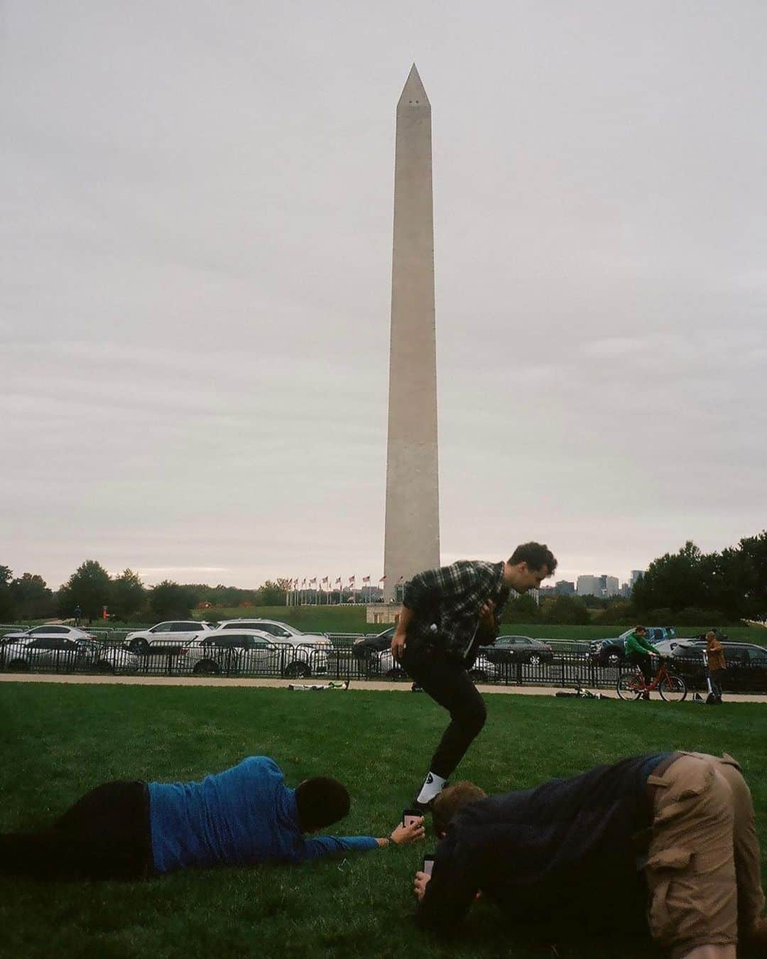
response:
<path id="1" fill-rule="evenodd" d="M 397 104 L 384 596 L 439 566 L 431 106 L 413 64 Z"/>

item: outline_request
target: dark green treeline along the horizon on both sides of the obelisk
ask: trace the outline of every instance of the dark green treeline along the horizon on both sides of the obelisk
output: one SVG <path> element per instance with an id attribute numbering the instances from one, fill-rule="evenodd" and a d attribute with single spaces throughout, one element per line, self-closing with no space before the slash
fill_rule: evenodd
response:
<path id="1" fill-rule="evenodd" d="M 69 618 L 78 607 L 87 620 L 101 618 L 105 607 L 110 616 L 124 622 L 166 620 L 189 616 L 204 605 L 281 606 L 288 586 L 287 579 L 268 580 L 257 590 L 165 580 L 147 588 L 131 570 L 110 576 L 95 559 L 88 559 L 54 592 L 42 576 L 24 573 L 14 578 L 9 567 L 0 566 L 0 621 Z M 503 620 L 571 625 L 652 620 L 660 625 L 700 625 L 765 615 L 767 530 L 721 552 L 704 553 L 687 542 L 679 552 L 665 553 L 650 563 L 630 600 L 553 596 L 539 606 L 531 596 L 518 596 L 506 607 Z"/>

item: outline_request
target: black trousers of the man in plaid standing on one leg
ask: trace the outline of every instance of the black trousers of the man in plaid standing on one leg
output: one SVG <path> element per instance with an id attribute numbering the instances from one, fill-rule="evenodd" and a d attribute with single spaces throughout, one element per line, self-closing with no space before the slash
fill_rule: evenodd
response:
<path id="1" fill-rule="evenodd" d="M 447 779 L 487 718 L 485 703 L 463 663 L 433 646 L 408 645 L 402 658 L 407 674 L 450 713 L 451 722 L 431 758 L 430 771 Z"/>

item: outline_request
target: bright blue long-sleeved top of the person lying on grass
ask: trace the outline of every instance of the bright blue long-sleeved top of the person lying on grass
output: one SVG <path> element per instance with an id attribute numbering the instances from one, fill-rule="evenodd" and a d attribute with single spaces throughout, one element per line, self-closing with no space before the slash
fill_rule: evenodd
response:
<path id="1" fill-rule="evenodd" d="M 267 756 L 250 756 L 199 783 L 150 783 L 154 869 L 301 862 L 373 849 L 372 836 L 304 838 L 295 790 Z"/>

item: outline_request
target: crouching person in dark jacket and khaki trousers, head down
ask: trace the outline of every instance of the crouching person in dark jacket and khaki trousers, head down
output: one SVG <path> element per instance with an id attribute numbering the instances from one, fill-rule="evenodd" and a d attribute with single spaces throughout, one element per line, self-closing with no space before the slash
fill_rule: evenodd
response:
<path id="1" fill-rule="evenodd" d="M 487 796 L 448 786 L 433 805 L 418 919 L 452 933 L 476 894 L 547 942 L 585 931 L 652 938 L 672 959 L 767 955 L 751 793 L 730 756 L 660 753 Z M 506 923 L 508 924 L 508 923 Z"/>

